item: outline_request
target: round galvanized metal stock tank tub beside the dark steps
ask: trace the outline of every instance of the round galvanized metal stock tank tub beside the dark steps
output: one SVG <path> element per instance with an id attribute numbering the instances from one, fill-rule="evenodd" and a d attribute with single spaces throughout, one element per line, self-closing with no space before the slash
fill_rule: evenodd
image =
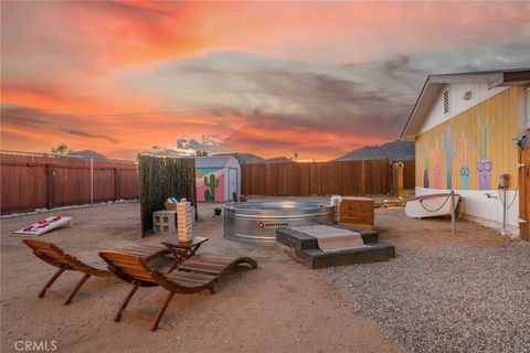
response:
<path id="1" fill-rule="evenodd" d="M 224 236 L 241 242 L 276 242 L 276 229 L 333 224 L 335 206 L 318 201 L 252 201 L 224 205 Z"/>

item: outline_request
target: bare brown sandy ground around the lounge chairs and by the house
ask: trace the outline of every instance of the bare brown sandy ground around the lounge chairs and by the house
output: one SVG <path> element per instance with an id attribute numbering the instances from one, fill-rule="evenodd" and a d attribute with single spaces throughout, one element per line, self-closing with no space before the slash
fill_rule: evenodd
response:
<path id="1" fill-rule="evenodd" d="M 257 269 L 240 269 L 208 292 L 176 296 L 156 332 L 142 320 L 113 315 L 129 286 L 117 279 L 91 278 L 74 301 L 36 293 L 55 271 L 12 234 L 42 215 L 1 221 L 1 351 L 17 352 L 19 340 L 55 341 L 56 352 L 402 352 L 372 320 L 350 310 L 351 296 L 331 289 L 325 270 L 310 270 L 275 246 L 231 242 L 222 236 L 215 205 L 200 205 L 202 222 L 194 234 L 210 238 L 200 253 L 239 254 L 255 258 Z M 74 227 L 53 231 L 50 240 L 84 260 L 100 249 L 128 244 L 160 244 L 166 236 L 139 236 L 139 204 L 114 204 L 61 212 Z M 400 248 L 443 244 L 508 246 L 510 240 L 469 222 L 458 235 L 446 220 L 417 221 L 399 210 L 379 210 L 381 240 Z M 63 275 L 55 289 L 68 291 L 81 275 Z M 142 288 L 129 309 L 153 314 L 166 296 L 161 288 Z"/>

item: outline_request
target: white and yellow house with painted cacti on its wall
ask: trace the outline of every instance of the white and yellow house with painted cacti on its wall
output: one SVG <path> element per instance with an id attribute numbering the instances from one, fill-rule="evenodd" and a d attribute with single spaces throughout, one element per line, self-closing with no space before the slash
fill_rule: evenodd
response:
<path id="1" fill-rule="evenodd" d="M 530 142 L 512 140 L 529 129 L 530 68 L 430 75 L 401 136 L 415 141 L 416 194 L 454 190 L 463 217 L 497 228 L 506 208 L 507 232 L 529 239 Z"/>

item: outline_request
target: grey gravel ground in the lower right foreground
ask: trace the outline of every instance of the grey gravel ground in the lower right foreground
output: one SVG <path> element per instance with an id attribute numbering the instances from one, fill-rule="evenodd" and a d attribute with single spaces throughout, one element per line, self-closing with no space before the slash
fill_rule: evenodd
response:
<path id="1" fill-rule="evenodd" d="M 411 352 L 530 352 L 530 243 L 404 249 L 326 279 Z"/>

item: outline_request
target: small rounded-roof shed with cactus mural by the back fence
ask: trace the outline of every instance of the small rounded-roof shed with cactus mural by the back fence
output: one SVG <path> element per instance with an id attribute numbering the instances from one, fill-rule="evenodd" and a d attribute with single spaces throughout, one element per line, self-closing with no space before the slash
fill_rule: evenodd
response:
<path id="1" fill-rule="evenodd" d="M 197 201 L 226 202 L 241 194 L 241 165 L 235 157 L 195 158 Z"/>

